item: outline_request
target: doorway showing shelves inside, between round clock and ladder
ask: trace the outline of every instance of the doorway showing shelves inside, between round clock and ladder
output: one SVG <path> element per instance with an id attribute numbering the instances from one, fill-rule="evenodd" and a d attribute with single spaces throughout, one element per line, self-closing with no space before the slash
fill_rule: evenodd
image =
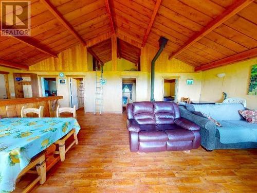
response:
<path id="1" fill-rule="evenodd" d="M 84 82 L 83 78 L 69 78 L 70 107 L 76 110 L 84 108 Z"/>

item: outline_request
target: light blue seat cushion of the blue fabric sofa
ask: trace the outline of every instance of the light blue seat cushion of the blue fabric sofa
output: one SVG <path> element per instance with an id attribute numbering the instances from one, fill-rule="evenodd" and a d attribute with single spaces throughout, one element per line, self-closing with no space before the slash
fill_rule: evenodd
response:
<path id="1" fill-rule="evenodd" d="M 217 127 L 216 137 L 222 144 L 257 142 L 257 124 L 245 120 L 222 120 L 223 127 Z"/>

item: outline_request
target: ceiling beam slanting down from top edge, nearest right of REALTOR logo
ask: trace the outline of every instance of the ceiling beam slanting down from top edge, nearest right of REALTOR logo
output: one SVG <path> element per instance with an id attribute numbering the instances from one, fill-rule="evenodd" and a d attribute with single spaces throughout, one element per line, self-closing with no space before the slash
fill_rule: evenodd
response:
<path id="1" fill-rule="evenodd" d="M 41 2 L 47 7 L 47 9 L 59 20 L 59 22 L 66 27 L 71 34 L 77 38 L 83 46 L 86 46 L 86 42 L 80 37 L 79 33 L 64 19 L 63 15 L 54 7 L 48 0 L 41 0 Z"/>

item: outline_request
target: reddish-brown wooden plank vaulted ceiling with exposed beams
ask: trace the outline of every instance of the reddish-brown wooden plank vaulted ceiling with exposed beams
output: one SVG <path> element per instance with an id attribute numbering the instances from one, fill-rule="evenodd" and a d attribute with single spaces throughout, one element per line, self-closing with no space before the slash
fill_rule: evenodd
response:
<path id="1" fill-rule="evenodd" d="M 163 36 L 170 59 L 205 70 L 257 56 L 256 11 L 253 0 L 32 0 L 31 37 L 0 37 L 0 63 L 27 68 L 79 43 L 106 62 L 115 33 L 118 57 L 137 63 Z"/>

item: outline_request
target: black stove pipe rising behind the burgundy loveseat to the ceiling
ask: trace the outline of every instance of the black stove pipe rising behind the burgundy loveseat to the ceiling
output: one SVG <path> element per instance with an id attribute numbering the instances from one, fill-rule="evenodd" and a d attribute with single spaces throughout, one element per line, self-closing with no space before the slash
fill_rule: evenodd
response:
<path id="1" fill-rule="evenodd" d="M 155 67 L 155 61 L 160 56 L 160 54 L 163 51 L 164 47 L 166 46 L 167 42 L 168 42 L 168 39 L 166 39 L 164 37 L 160 37 L 160 39 L 159 39 L 160 48 L 157 51 L 156 55 L 154 56 L 154 58 L 151 62 L 151 101 L 155 101 L 155 99 L 154 99 L 154 73 L 155 73 L 154 67 Z"/>

